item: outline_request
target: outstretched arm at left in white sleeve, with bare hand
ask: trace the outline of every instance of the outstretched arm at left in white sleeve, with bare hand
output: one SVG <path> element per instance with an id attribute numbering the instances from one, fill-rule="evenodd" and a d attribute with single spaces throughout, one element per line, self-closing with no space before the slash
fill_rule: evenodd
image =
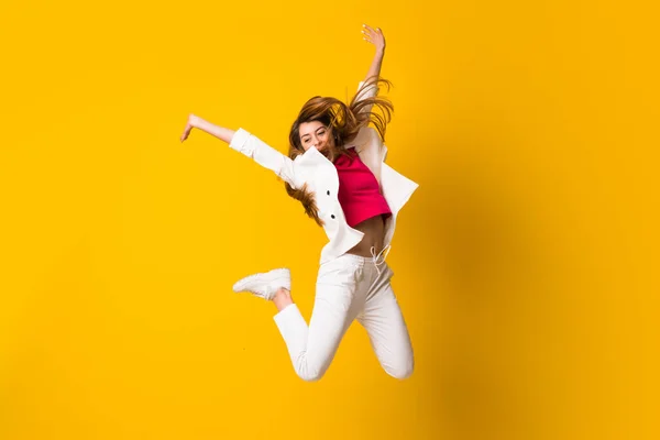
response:
<path id="1" fill-rule="evenodd" d="M 239 153 L 243 153 L 261 166 L 273 170 L 294 188 L 298 186 L 297 184 L 299 183 L 295 174 L 294 161 L 245 130 L 239 129 L 234 131 L 216 125 L 198 116 L 190 114 L 188 116 L 188 123 L 180 136 L 182 142 L 188 139 L 193 129 L 201 130 L 227 142 L 231 148 Z"/>

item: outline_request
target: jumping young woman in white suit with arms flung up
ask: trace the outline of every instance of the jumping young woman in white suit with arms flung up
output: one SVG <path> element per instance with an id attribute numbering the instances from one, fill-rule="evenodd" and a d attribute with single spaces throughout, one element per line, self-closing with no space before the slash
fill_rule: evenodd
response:
<path id="1" fill-rule="evenodd" d="M 376 47 L 366 79 L 348 106 L 334 98 L 308 100 L 292 127 L 288 157 L 243 129 L 218 127 L 195 114 L 180 138 L 183 142 L 193 129 L 201 130 L 272 169 L 328 235 L 309 326 L 293 300 L 288 268 L 251 275 L 233 286 L 234 292 L 250 292 L 275 304 L 275 323 L 305 381 L 326 373 L 355 319 L 389 375 L 406 378 L 414 367 L 385 256 L 397 215 L 418 185 L 384 163 L 385 128 L 393 110 L 389 101 L 377 97 L 377 85 L 389 85 L 380 79 L 385 37 L 367 25 L 362 33 Z"/>

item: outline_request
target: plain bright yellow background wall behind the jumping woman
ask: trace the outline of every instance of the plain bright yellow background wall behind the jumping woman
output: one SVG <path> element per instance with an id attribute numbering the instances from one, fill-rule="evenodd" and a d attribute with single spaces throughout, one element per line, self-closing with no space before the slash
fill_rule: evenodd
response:
<path id="1" fill-rule="evenodd" d="M 620 4 L 618 4 L 620 3 Z M 0 438 L 656 439 L 658 56 L 637 1 L 3 0 Z M 650 2 L 648 2 L 650 4 Z M 294 373 L 323 232 L 189 112 L 279 151 L 387 38 L 388 256 L 416 352 Z"/>

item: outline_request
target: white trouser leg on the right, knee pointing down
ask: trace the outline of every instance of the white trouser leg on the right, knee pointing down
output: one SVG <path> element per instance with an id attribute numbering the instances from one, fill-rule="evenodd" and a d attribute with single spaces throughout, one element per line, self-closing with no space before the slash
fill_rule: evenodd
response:
<path id="1" fill-rule="evenodd" d="M 372 267 L 370 267 L 371 270 Z M 392 270 L 381 265 L 381 274 L 374 275 L 364 310 L 358 321 L 366 329 L 372 348 L 387 374 L 407 378 L 413 374 L 415 359 L 410 336 L 398 301 L 389 283 Z M 373 268 L 375 271 L 375 267 Z"/>

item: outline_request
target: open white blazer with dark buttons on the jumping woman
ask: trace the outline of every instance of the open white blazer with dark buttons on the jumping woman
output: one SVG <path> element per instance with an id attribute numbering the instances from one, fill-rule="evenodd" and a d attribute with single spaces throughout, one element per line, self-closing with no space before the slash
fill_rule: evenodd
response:
<path id="1" fill-rule="evenodd" d="M 294 188 L 307 184 L 307 190 L 314 194 L 319 218 L 323 221 L 323 230 L 329 242 L 321 250 L 320 264 L 343 255 L 355 246 L 364 235 L 346 223 L 339 204 L 339 177 L 334 164 L 311 146 L 294 161 L 271 147 L 258 138 L 243 129 L 239 129 L 230 144 L 233 150 L 243 153 L 257 164 L 268 168 Z M 385 163 L 387 147 L 373 128 L 363 128 L 346 147 L 355 146 L 362 162 L 371 169 L 381 186 L 381 190 L 392 217 L 385 222 L 384 246 L 389 245 L 394 237 L 396 218 L 413 193 L 419 186 L 409 178 L 394 170 Z"/>

